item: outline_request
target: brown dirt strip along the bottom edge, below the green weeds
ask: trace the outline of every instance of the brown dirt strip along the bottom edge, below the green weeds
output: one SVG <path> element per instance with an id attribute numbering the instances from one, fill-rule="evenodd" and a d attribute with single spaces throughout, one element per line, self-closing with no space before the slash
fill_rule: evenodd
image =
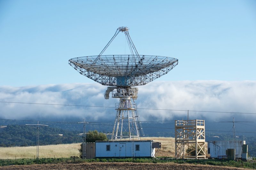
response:
<path id="1" fill-rule="evenodd" d="M 225 166 L 210 166 L 210 165 L 193 165 L 193 164 L 176 164 L 176 163 L 81 163 L 81 164 L 41 164 L 41 165 L 22 165 L 22 166 L 2 166 L 0 169 L 136 169 L 136 170 L 156 170 L 156 169 L 180 169 L 180 170 L 224 170 L 224 169 L 243 169 L 232 168 Z"/>

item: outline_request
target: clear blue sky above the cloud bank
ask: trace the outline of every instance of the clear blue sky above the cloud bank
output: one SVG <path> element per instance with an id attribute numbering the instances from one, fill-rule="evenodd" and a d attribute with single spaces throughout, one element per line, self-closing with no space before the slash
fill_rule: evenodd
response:
<path id="1" fill-rule="evenodd" d="M 0 0 L 0 86 L 93 83 L 68 59 L 98 55 L 120 26 L 139 54 L 179 59 L 155 81 L 255 81 L 253 0 Z M 125 36 L 104 54 L 129 54 Z"/>

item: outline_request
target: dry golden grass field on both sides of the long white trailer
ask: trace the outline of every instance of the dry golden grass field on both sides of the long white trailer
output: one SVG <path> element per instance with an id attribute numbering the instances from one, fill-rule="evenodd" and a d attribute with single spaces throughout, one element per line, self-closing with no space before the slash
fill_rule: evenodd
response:
<path id="1" fill-rule="evenodd" d="M 162 148 L 157 157 L 174 157 L 174 138 L 170 137 L 142 137 L 141 140 L 161 142 Z M 39 158 L 70 158 L 79 156 L 80 143 L 39 146 Z M 36 146 L 28 147 L 0 147 L 0 159 L 35 158 Z"/>

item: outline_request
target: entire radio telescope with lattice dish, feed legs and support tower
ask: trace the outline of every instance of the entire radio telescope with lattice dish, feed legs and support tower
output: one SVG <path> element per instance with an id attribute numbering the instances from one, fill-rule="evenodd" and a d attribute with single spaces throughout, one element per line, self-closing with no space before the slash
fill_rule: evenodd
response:
<path id="1" fill-rule="evenodd" d="M 145 85 L 162 75 L 168 73 L 178 65 L 178 59 L 139 55 L 128 32 L 128 27 L 119 27 L 105 48 L 98 56 L 72 58 L 69 65 L 74 67 L 80 74 L 108 87 L 105 99 L 119 98 L 116 104 L 116 120 L 112 132 L 112 140 L 134 137 L 140 140 L 144 135 L 140 117 L 135 103 L 131 102 L 138 97 L 138 88 L 132 86 Z M 131 54 L 130 55 L 102 55 L 119 32 L 126 36 Z"/>

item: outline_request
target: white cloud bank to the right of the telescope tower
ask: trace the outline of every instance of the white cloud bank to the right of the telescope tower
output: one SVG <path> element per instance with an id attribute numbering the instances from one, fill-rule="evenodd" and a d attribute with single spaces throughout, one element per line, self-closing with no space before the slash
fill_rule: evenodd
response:
<path id="1" fill-rule="evenodd" d="M 140 88 L 138 107 L 192 111 L 255 112 L 255 89 L 256 81 L 156 81 Z M 157 112 L 157 116 L 161 120 L 172 119 L 179 115 L 185 118 L 187 115 L 187 112 L 179 111 Z M 145 117 L 147 114 L 156 115 L 156 111 L 143 114 Z M 191 119 L 206 117 L 217 119 L 218 117 L 232 116 L 228 113 L 211 112 L 189 112 L 189 115 Z M 243 114 L 243 117 L 248 116 L 252 115 Z"/>

